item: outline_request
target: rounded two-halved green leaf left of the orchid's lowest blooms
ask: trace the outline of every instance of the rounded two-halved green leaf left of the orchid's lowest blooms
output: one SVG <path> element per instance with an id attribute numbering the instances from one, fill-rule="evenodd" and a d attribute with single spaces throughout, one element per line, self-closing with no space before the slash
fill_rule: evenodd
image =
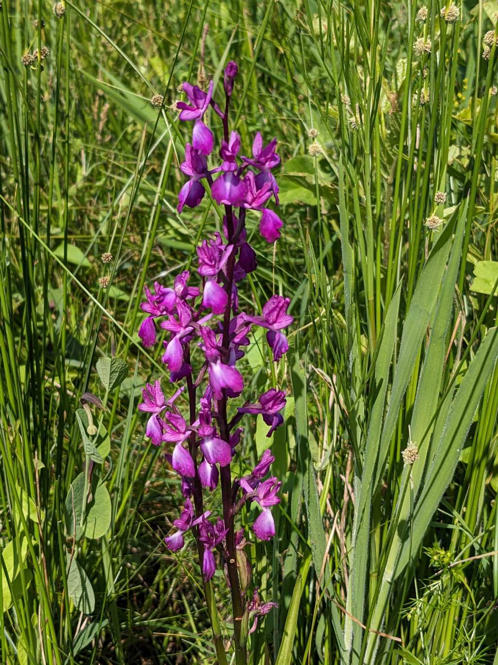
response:
<path id="1" fill-rule="evenodd" d="M 98 483 L 94 476 L 91 488 L 90 501 L 86 501 L 85 521 L 81 524 L 83 495 L 85 489 L 84 473 L 76 476 L 72 482 L 66 503 L 64 505 L 64 517 L 66 520 L 66 533 L 79 540 L 83 535 L 87 538 L 100 538 L 107 533 L 111 524 L 111 497 L 106 485 Z M 76 529 L 75 529 L 76 520 Z"/>

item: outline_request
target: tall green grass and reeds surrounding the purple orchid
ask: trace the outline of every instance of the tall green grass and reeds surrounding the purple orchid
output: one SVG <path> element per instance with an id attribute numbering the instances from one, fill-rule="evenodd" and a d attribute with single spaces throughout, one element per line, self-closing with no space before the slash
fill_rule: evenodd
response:
<path id="1" fill-rule="evenodd" d="M 163 544 L 179 486 L 144 440 L 162 370 L 136 331 L 146 275 L 219 225 L 208 198 L 176 213 L 177 86 L 235 58 L 242 142 L 275 135 L 284 164 L 251 297 L 293 293 L 296 319 L 277 535 L 250 548 L 279 608 L 250 662 L 498 663 L 498 9 L 421 7 L 3 1 L 2 662 L 214 662 L 210 616 L 232 653 L 223 581 L 207 608 Z M 259 338 L 247 357 L 256 395 Z"/>

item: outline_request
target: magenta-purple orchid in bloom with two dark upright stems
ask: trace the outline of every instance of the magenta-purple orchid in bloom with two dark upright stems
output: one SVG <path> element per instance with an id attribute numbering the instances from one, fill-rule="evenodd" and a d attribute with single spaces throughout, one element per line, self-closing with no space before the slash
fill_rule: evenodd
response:
<path id="1" fill-rule="evenodd" d="M 223 234 L 204 239 L 197 247 L 199 286 L 192 286 L 189 271 L 177 275 L 173 287 L 155 283 L 153 290 L 145 287 L 141 309 L 147 316 L 141 323 L 139 336 L 145 346 L 153 346 L 157 325 L 169 332 L 163 342 L 162 356 L 171 384 L 181 384 L 168 399 L 161 382 L 147 384 L 139 409 L 148 412 L 146 434 L 156 446 L 173 444 L 165 459 L 181 477 L 185 499 L 175 531 L 165 538 L 173 552 L 185 547 L 185 538 L 192 533 L 197 543 L 203 575 L 203 587 L 212 624 L 214 647 L 218 662 L 226 663 L 224 642 L 218 624 L 210 580 L 216 571 L 216 556 L 224 570 L 232 598 L 232 648 L 237 665 L 247 662 L 248 636 L 256 630 L 258 617 L 267 614 L 274 602 L 261 602 L 258 587 L 252 597 L 252 567 L 244 551 L 248 544 L 244 530 L 236 530 L 236 516 L 246 505 L 258 506 L 252 531 L 257 539 L 268 541 L 275 535 L 271 508 L 280 502 L 280 481 L 265 476 L 274 457 L 270 448 L 247 475 L 233 477 L 231 464 L 238 456 L 243 428 L 236 427 L 245 414 L 260 414 L 270 426 L 268 437 L 284 422 L 282 410 L 285 393 L 270 388 L 260 395 L 257 404 L 232 402 L 244 390 L 244 377 L 237 363 L 250 344 L 248 335 L 254 327 L 266 329 L 274 362 L 288 350 L 283 329 L 293 317 L 287 310 L 290 300 L 273 295 L 260 314 L 240 311 L 238 289 L 248 273 L 257 268 L 256 253 L 247 242 L 246 210 L 260 211 L 260 233 L 268 243 L 280 237 L 282 219 L 268 207 L 274 198 L 278 205 L 278 184 L 272 169 L 280 164 L 276 140 L 264 146 L 258 132 L 252 145 L 252 158 L 238 158 L 240 136 L 230 132 L 230 98 L 238 74 L 235 63 L 228 63 L 224 72 L 224 112 L 214 101 L 213 83 L 207 92 L 189 83 L 183 84 L 187 102 L 178 102 L 180 119 L 193 122 L 192 142 L 185 146 L 182 172 L 189 178 L 179 192 L 178 211 L 185 205 L 196 207 L 204 197 L 203 180 L 207 180 L 212 197 L 224 206 Z M 205 124 L 205 114 L 212 108 L 221 119 L 223 139 L 219 156 L 221 163 L 208 167 L 214 148 L 214 134 Z M 213 176 L 216 176 L 214 179 Z M 194 379 L 194 376 L 197 378 Z M 185 391 L 186 388 L 186 391 Z M 185 399 L 187 398 L 187 399 Z M 182 413 L 188 402 L 188 424 Z M 240 466 L 240 465 L 239 465 Z M 221 515 L 212 521 L 209 494 L 220 485 Z M 216 555 L 216 556 L 215 556 Z M 249 621 L 254 620 L 252 626 Z"/>

